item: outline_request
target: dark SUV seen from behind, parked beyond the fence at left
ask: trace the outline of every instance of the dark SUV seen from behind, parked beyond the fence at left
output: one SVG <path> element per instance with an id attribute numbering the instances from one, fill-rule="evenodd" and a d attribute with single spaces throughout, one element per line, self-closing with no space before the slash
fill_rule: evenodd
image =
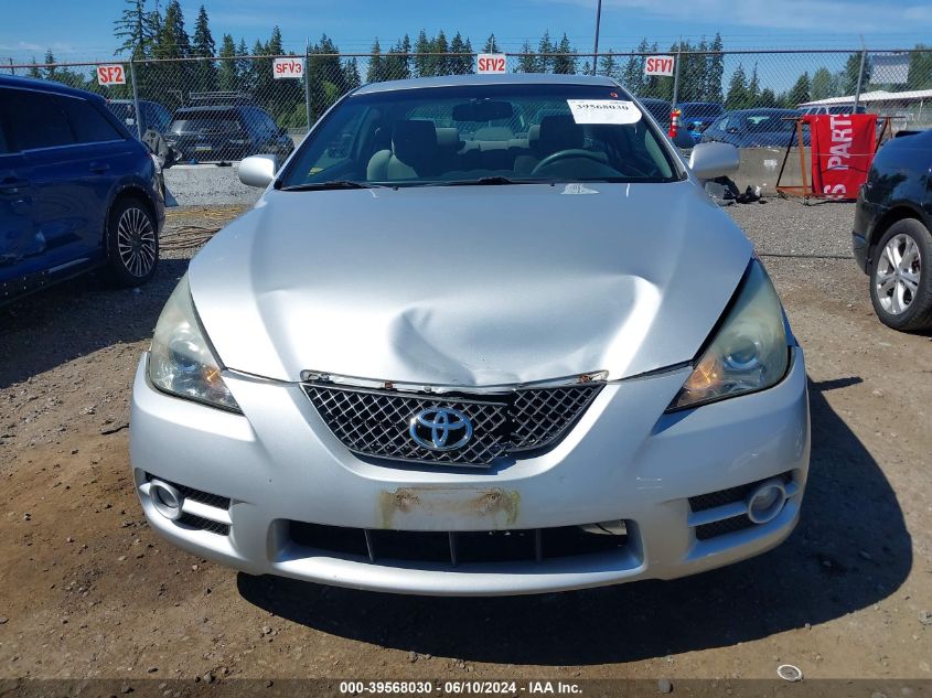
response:
<path id="1" fill-rule="evenodd" d="M 267 111 L 253 105 L 182 107 L 165 142 L 179 160 L 242 160 L 256 153 L 289 155 L 294 142 Z"/>

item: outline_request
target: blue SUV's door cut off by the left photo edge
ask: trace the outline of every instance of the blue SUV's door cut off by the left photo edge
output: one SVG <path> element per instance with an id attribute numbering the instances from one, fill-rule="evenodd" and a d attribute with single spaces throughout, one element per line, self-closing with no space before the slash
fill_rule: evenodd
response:
<path id="1" fill-rule="evenodd" d="M 29 167 L 13 146 L 3 108 L 8 90 L 0 87 L 0 300 L 21 290 L 11 282 L 42 268 L 44 244 L 32 223 L 34 191 Z"/>

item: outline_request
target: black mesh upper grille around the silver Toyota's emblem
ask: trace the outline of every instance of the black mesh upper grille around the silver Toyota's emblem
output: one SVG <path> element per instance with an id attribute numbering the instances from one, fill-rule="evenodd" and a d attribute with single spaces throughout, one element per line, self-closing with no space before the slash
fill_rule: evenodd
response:
<path id="1" fill-rule="evenodd" d="M 304 390 L 330 430 L 354 453 L 486 466 L 506 453 L 554 445 L 603 386 L 604 383 L 591 382 L 474 395 L 401 393 L 312 382 L 304 384 Z M 408 432 L 410 420 L 421 410 L 433 408 L 464 414 L 473 428 L 469 442 L 450 451 L 418 444 Z"/>

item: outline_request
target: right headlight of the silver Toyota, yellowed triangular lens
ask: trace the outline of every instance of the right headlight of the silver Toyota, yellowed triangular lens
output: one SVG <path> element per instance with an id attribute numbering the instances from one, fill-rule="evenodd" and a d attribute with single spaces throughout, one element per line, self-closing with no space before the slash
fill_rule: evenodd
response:
<path id="1" fill-rule="evenodd" d="M 780 299 L 754 260 L 718 334 L 667 410 L 763 390 L 783 378 L 789 362 Z"/>

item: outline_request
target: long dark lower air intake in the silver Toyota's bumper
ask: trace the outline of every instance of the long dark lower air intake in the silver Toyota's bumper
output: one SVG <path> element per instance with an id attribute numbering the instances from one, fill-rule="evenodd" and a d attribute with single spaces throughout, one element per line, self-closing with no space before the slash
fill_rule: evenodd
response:
<path id="1" fill-rule="evenodd" d="M 527 562 L 618 552 L 628 534 L 590 533 L 580 526 L 519 530 L 372 530 L 290 522 L 291 540 L 302 548 L 371 562 L 398 560 L 470 565 Z"/>

